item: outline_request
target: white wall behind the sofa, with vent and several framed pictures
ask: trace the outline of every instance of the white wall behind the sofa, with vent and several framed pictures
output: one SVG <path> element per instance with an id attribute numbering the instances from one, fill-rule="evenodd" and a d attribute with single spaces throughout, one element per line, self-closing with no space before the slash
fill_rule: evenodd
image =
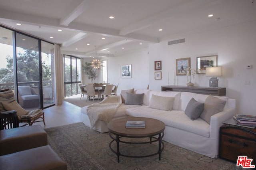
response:
<path id="1" fill-rule="evenodd" d="M 186 38 L 185 43 L 167 45 L 168 41 Z M 174 76 L 176 59 L 191 58 L 191 67 L 196 69 L 196 57 L 218 55 L 218 66 L 223 67 L 219 87 L 226 87 L 226 96 L 237 100 L 237 113 L 256 115 L 256 22 L 247 22 L 218 30 L 175 39 L 166 39 L 149 46 L 150 89 L 161 90 L 161 85 L 186 85 L 186 76 Z M 154 61 L 162 61 L 162 80 L 154 79 Z M 246 69 L 246 65 L 253 65 Z M 208 87 L 205 75 L 197 74 L 192 83 Z M 245 81 L 250 80 L 250 85 Z"/>

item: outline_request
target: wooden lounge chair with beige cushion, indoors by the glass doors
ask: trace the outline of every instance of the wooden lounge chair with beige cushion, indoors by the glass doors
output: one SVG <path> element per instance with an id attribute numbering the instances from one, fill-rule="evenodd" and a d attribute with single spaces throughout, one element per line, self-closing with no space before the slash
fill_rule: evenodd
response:
<path id="1" fill-rule="evenodd" d="M 0 90 L 0 114 L 13 110 L 17 112 L 19 123 L 24 123 L 22 126 L 31 126 L 35 122 L 44 122 L 44 112 L 41 109 L 27 111 L 15 100 L 14 93 L 11 89 Z"/>

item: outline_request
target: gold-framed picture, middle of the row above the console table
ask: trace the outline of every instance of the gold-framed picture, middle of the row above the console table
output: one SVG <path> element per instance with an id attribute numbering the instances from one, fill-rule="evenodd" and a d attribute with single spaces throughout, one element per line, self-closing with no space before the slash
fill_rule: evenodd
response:
<path id="1" fill-rule="evenodd" d="M 190 57 L 176 59 L 176 75 L 186 75 L 190 67 Z"/>

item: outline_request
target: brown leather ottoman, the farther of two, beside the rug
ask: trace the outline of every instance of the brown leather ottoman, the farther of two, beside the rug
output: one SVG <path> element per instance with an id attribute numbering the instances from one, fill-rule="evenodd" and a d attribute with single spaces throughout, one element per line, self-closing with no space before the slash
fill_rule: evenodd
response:
<path id="1" fill-rule="evenodd" d="M 0 156 L 48 145 L 40 125 L 0 130 Z"/>

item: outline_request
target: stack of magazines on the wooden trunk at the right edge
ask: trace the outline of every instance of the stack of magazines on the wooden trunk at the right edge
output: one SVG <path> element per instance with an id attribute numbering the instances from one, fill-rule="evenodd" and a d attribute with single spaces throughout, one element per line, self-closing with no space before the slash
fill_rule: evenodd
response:
<path id="1" fill-rule="evenodd" d="M 256 116 L 252 115 L 236 115 L 233 118 L 237 121 L 238 125 L 256 127 Z"/>

